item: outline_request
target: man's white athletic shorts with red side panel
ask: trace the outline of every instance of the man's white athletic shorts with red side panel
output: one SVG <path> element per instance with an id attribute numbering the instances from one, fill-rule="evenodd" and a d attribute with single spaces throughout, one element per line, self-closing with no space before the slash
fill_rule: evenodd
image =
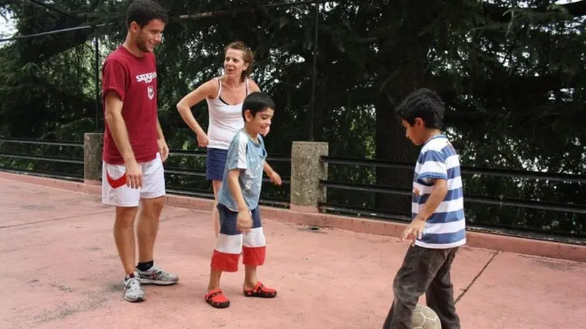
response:
<path id="1" fill-rule="evenodd" d="M 102 161 L 101 201 L 111 206 L 136 207 L 140 199 L 153 199 L 165 195 L 165 171 L 160 154 L 149 162 L 140 162 L 143 186 L 131 189 L 126 186 L 126 167 Z"/>

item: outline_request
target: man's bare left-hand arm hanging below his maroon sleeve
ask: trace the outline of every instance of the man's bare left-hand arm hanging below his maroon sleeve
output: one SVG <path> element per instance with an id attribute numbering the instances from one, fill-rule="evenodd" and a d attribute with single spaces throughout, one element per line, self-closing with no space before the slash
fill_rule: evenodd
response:
<path id="1" fill-rule="evenodd" d="M 108 94 L 106 94 L 105 120 L 106 123 L 108 123 L 110 133 L 112 134 L 116 147 L 118 147 L 118 150 L 122 155 L 124 163 L 128 163 L 136 161 L 136 159 L 131 147 L 131 142 L 128 139 L 126 123 L 124 123 L 124 118 L 122 117 L 122 105 L 122 100 L 118 97 L 116 92 L 109 91 Z"/>

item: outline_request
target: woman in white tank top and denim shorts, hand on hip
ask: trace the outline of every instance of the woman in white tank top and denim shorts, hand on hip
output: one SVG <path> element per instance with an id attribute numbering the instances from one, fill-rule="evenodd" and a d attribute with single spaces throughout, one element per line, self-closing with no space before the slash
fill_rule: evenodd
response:
<path id="1" fill-rule="evenodd" d="M 233 42 L 224 48 L 224 74 L 204 82 L 197 89 L 184 96 L 177 103 L 177 111 L 183 121 L 197 135 L 199 147 L 207 147 L 206 177 L 214 187 L 214 209 L 211 220 L 216 237 L 220 232 L 219 213 L 216 208 L 218 192 L 222 186 L 226 154 L 233 136 L 243 128 L 242 104 L 245 97 L 253 91 L 260 91 L 258 85 L 248 79 L 253 69 L 254 57 L 250 48 L 241 41 Z M 207 133 L 195 120 L 191 108 L 206 99 L 209 112 Z M 268 133 L 265 131 L 264 135 Z M 279 175 L 269 165 L 265 172 L 280 184 Z"/>

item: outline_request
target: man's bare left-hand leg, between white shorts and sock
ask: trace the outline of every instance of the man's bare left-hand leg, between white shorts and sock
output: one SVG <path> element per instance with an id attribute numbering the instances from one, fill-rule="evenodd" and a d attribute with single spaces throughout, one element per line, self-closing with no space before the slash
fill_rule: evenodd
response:
<path id="1" fill-rule="evenodd" d="M 114 240 L 127 275 L 134 273 L 134 218 L 138 207 L 116 207 Z"/>

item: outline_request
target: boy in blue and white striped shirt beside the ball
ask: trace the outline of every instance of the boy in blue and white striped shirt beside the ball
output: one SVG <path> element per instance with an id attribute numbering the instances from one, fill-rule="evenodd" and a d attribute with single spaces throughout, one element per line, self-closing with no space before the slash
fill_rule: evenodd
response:
<path id="1" fill-rule="evenodd" d="M 397 107 L 405 135 L 422 148 L 413 178 L 413 219 L 403 233 L 411 246 L 394 278 L 394 301 L 383 329 L 410 329 L 423 294 L 442 328 L 460 328 L 450 269 L 458 247 L 466 243 L 464 199 L 458 154 L 440 132 L 443 106 L 434 91 L 423 88 Z"/>

